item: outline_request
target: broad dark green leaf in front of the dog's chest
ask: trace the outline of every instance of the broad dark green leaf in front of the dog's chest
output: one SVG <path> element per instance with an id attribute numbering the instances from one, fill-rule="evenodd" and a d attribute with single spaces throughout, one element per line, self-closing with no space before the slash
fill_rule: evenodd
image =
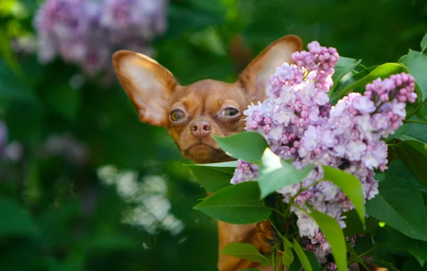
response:
<path id="1" fill-rule="evenodd" d="M 259 197 L 258 183 L 247 181 L 221 189 L 194 206 L 194 209 L 227 223 L 257 223 L 268 218 L 271 213 Z"/>

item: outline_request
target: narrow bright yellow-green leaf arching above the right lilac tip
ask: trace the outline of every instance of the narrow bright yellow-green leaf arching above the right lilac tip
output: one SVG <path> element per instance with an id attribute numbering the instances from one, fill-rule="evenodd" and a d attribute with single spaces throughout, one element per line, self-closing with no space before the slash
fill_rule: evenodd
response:
<path id="1" fill-rule="evenodd" d="M 349 92 L 354 90 L 357 87 L 364 87 L 367 85 L 367 83 L 371 83 L 376 78 L 387 78 L 390 75 L 401 73 L 402 66 L 397 63 L 385 63 L 383 65 L 380 65 L 379 67 L 375 68 L 371 71 L 368 75 L 364 76 L 362 79 L 357 80 L 354 83 L 351 84 L 343 84 L 341 85 L 331 96 L 331 100 L 335 100 L 339 97 L 342 97 L 344 95 L 347 95 Z"/>

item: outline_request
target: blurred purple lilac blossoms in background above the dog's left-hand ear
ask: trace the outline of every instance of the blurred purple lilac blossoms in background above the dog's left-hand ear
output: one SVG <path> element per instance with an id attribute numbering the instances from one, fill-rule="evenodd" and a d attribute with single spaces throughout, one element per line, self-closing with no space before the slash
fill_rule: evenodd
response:
<path id="1" fill-rule="evenodd" d="M 90 75 L 110 71 L 114 51 L 149 54 L 166 28 L 167 0 L 47 0 L 34 21 L 38 56 L 59 55 Z"/>

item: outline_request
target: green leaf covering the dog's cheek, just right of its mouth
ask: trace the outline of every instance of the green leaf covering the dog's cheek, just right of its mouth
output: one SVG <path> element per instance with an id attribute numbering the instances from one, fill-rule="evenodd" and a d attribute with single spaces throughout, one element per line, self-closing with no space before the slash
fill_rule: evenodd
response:
<path id="1" fill-rule="evenodd" d="M 264 137 L 255 132 L 242 132 L 229 137 L 214 137 L 219 147 L 228 156 L 258 164 L 268 143 Z"/>

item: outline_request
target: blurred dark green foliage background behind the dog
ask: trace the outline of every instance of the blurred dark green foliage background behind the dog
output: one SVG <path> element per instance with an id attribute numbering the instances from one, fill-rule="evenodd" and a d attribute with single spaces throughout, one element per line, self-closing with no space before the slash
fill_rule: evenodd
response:
<path id="1" fill-rule="evenodd" d="M 0 270 L 216 270 L 216 223 L 192 210 L 206 194 L 167 131 L 117 82 L 14 50 L 42 2 L 0 1 Z M 426 0 L 171 0 L 152 46 L 185 85 L 233 81 L 290 33 L 374 65 L 426 32 Z"/>

